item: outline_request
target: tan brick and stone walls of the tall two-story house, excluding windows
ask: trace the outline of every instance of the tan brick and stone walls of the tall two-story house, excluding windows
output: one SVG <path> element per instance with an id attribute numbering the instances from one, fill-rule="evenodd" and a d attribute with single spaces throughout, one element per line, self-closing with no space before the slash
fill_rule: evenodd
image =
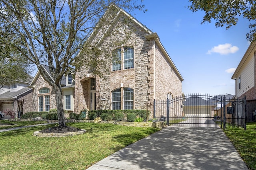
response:
<path id="1" fill-rule="evenodd" d="M 134 68 L 110 71 L 110 74 L 102 78 L 96 76 L 96 109 L 111 109 L 111 91 L 121 88 L 121 84 L 123 87 L 134 89 L 134 109 L 146 109 L 146 104 L 150 102 L 153 104 L 154 100 L 154 69 L 156 69 L 157 82 L 155 97 L 165 100 L 168 92 L 180 96 L 181 80 L 158 47 L 156 47 L 156 68 L 154 68 L 154 39 L 147 40 L 144 35 L 148 32 L 136 23 L 126 25 L 126 29 L 132 33 L 123 46 L 134 48 Z M 111 39 L 116 39 L 116 36 L 110 35 L 104 41 L 111 42 Z M 76 72 L 76 112 L 82 109 L 82 106 L 89 108 L 89 100 L 87 100 L 89 85 L 85 83 L 92 76 L 90 74 L 88 76 L 88 73 L 85 68 Z M 153 106 L 150 109 L 152 110 Z"/>

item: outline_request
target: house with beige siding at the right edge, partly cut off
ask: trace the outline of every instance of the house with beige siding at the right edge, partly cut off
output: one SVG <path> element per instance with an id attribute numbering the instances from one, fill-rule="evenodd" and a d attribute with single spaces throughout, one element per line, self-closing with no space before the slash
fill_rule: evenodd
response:
<path id="1" fill-rule="evenodd" d="M 254 121 L 256 110 L 256 42 L 251 43 L 238 64 L 232 79 L 236 80 L 236 98 L 246 96 L 247 121 Z"/>

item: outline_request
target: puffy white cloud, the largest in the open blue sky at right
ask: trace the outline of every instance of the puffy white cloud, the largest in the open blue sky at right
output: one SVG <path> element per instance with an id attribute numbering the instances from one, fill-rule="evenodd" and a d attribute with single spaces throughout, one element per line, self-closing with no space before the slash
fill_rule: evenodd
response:
<path id="1" fill-rule="evenodd" d="M 219 53 L 221 55 L 227 55 L 230 53 L 236 53 L 236 51 L 238 51 L 239 48 L 236 46 L 232 46 L 229 43 L 226 44 L 219 44 L 218 46 L 214 46 L 212 47 L 212 49 L 208 50 L 208 52 L 206 54 L 212 54 L 212 53 Z"/>

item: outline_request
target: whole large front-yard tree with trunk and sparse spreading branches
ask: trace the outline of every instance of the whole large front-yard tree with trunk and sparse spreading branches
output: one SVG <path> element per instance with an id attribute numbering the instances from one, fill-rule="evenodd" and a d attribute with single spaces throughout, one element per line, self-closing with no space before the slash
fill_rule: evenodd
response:
<path id="1" fill-rule="evenodd" d="M 70 71 L 70 66 L 76 69 L 87 66 L 93 75 L 102 75 L 102 69 L 98 68 L 105 61 L 98 56 L 115 41 L 93 43 L 88 39 L 93 37 L 95 30 L 113 24 L 119 9 L 109 10 L 111 4 L 129 11 L 143 8 L 137 0 L 0 1 L 2 44 L 34 63 L 44 80 L 53 87 L 60 127 L 66 126 L 60 80 Z M 104 16 L 107 10 L 113 15 Z M 85 57 L 79 59 L 78 56 Z M 49 66 L 50 75 L 43 64 Z"/>

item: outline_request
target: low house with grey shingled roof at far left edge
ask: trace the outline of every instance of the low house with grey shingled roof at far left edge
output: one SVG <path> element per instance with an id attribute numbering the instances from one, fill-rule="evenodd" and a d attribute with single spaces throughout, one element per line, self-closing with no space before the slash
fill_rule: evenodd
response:
<path id="1" fill-rule="evenodd" d="M 25 113 L 29 111 L 31 108 L 32 89 L 28 88 L 28 85 L 29 82 L 17 82 L 2 87 L 0 89 L 0 111 L 14 111 L 15 117 L 19 116 L 19 112 Z M 24 103 L 23 107 L 20 106 L 19 108 L 18 102 L 20 101 Z M 5 118 L 10 118 L 10 116 L 6 115 Z"/>

